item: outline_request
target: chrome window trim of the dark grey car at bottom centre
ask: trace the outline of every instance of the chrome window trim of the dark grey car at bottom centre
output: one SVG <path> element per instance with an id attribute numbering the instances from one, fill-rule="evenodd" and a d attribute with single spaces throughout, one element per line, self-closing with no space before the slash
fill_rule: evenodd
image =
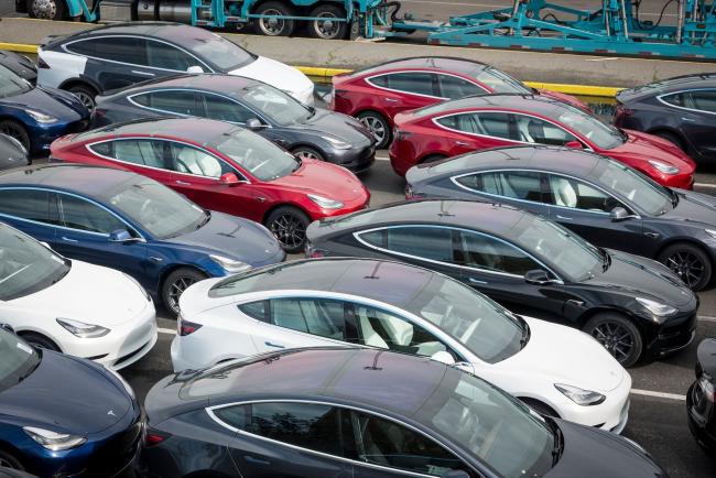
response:
<path id="1" fill-rule="evenodd" d="M 209 417 L 211 420 L 214 420 L 214 422 L 216 422 L 218 425 L 223 426 L 226 430 L 229 430 L 232 433 L 239 434 L 239 435 L 250 436 L 250 437 L 258 438 L 258 439 L 261 439 L 261 441 L 264 441 L 264 442 L 268 442 L 268 443 L 272 443 L 274 445 L 286 446 L 289 448 L 292 448 L 292 449 L 295 449 L 295 450 L 299 450 L 299 452 L 317 455 L 317 456 L 321 456 L 321 457 L 324 457 L 324 458 L 337 459 L 339 461 L 347 463 L 347 464 L 350 464 L 350 465 L 361 465 L 361 466 L 366 466 L 366 467 L 378 469 L 378 470 L 387 470 L 387 471 L 390 471 L 390 472 L 401 472 L 401 474 L 404 474 L 405 476 L 410 476 L 410 477 L 440 478 L 438 475 L 426 475 L 426 474 L 421 474 L 421 472 L 416 472 L 416 471 L 409 471 L 409 470 L 404 470 L 404 469 L 400 469 L 400 468 L 391 468 L 391 467 L 377 465 L 377 464 L 372 464 L 372 463 L 359 461 L 359 460 L 351 459 L 351 458 L 346 458 L 346 457 L 343 457 L 343 456 L 335 456 L 335 455 L 330 455 L 330 454 L 327 454 L 327 453 L 324 453 L 324 452 L 317 452 L 317 450 L 310 449 L 310 448 L 303 448 L 301 446 L 292 445 L 292 444 L 284 443 L 284 442 L 279 442 L 278 439 L 268 438 L 265 436 L 257 435 L 257 434 L 253 434 L 253 433 L 246 432 L 243 430 L 237 428 L 235 426 L 231 426 L 228 423 L 224 422 L 221 419 L 219 419 L 216 415 L 216 413 L 214 413 L 215 410 L 219 410 L 219 409 L 227 409 L 227 408 L 230 408 L 230 406 L 252 405 L 254 403 L 305 403 L 305 404 L 310 404 L 310 405 L 324 405 L 324 406 L 332 406 L 332 408 L 336 408 L 336 409 L 347 409 L 347 410 L 352 410 L 352 411 L 360 412 L 360 413 L 364 413 L 364 414 L 367 414 L 367 415 L 377 416 L 379 419 L 387 420 L 389 422 L 395 423 L 399 426 L 403 426 L 405 428 L 409 428 L 410 431 L 412 431 L 414 433 L 417 433 L 419 435 L 422 435 L 426 439 L 431 441 L 432 443 L 435 443 L 441 448 L 445 449 L 451 455 L 455 456 L 456 459 L 460 460 L 470 470 L 477 472 L 480 476 L 482 475 L 479 470 L 476 470 L 469 463 L 466 463 L 465 459 L 457 456 L 453 450 L 451 450 L 449 448 L 444 446 L 442 443 L 437 442 L 435 438 L 428 436 L 427 434 L 425 434 L 421 430 L 417 430 L 416 427 L 414 427 L 414 426 L 412 426 L 412 425 L 410 425 L 408 423 L 401 422 L 401 421 L 399 421 L 397 419 L 393 419 L 393 417 L 388 416 L 386 414 L 382 414 L 380 412 L 368 411 L 368 410 L 365 410 L 365 409 L 359 409 L 358 406 L 354 406 L 354 405 L 348 405 L 348 404 L 343 404 L 343 403 L 334 403 L 334 402 L 328 402 L 328 401 L 319 401 L 319 400 L 307 400 L 307 399 L 305 399 L 305 400 L 301 400 L 301 399 L 275 399 L 275 400 L 260 399 L 260 400 L 242 400 L 242 401 L 238 401 L 238 402 L 224 403 L 221 405 L 206 406 L 204 410 L 209 415 Z"/>

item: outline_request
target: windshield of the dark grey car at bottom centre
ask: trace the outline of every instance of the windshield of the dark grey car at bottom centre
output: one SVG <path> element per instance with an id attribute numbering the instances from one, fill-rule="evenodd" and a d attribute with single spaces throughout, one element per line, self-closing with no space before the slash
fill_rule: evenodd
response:
<path id="1" fill-rule="evenodd" d="M 544 476 L 552 468 L 555 439 L 544 419 L 475 376 L 448 372 L 419 413 L 501 477 Z"/>

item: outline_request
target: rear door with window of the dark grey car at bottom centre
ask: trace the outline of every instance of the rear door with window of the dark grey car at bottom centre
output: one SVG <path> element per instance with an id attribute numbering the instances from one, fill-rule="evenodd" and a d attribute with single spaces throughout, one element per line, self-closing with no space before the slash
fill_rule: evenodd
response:
<path id="1" fill-rule="evenodd" d="M 355 454 L 350 416 L 339 408 L 263 401 L 215 406 L 209 415 L 236 431 L 230 454 L 242 477 L 352 477 L 345 459 Z"/>

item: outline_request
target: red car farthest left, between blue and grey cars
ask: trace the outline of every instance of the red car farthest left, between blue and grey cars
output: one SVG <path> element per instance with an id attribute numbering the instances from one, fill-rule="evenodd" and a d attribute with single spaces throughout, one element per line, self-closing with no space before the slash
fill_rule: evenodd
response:
<path id="1" fill-rule="evenodd" d="M 286 252 L 313 220 L 362 209 L 370 193 L 348 170 L 297 160 L 260 135 L 202 118 L 139 120 L 63 137 L 51 161 L 149 176 L 211 210 L 265 225 Z"/>

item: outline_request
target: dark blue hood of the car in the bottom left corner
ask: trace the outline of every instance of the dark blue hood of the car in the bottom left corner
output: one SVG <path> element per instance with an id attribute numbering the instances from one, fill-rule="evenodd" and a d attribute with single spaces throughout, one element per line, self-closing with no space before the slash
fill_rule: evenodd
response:
<path id="1" fill-rule="evenodd" d="M 99 366 L 48 350 L 42 355 L 28 378 L 0 392 L 0 415 L 30 426 L 87 435 L 112 426 L 131 409 L 127 392 Z"/>

